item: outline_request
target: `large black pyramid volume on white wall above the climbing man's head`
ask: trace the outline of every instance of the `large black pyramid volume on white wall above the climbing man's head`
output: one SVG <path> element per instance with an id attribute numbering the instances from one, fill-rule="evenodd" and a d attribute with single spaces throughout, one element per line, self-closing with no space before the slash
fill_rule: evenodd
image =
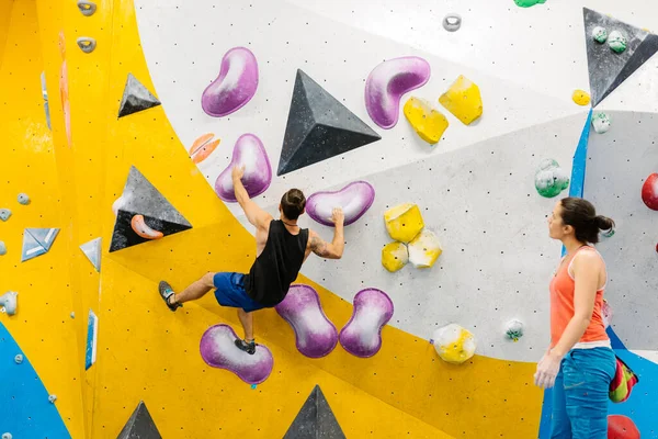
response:
<path id="1" fill-rule="evenodd" d="M 381 138 L 298 69 L 276 175 L 292 172 Z"/>

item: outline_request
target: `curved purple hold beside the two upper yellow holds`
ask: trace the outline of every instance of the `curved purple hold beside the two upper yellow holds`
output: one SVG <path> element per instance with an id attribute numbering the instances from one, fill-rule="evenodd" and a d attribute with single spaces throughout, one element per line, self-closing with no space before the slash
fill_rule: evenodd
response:
<path id="1" fill-rule="evenodd" d="M 424 86 L 430 74 L 430 64 L 418 56 L 389 59 L 375 67 L 365 81 L 365 109 L 373 122 L 393 128 L 402 94 Z"/>

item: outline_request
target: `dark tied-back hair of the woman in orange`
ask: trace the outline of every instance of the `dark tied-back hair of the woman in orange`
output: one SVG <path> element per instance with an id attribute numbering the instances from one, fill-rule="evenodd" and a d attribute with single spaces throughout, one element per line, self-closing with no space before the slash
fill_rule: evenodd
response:
<path id="1" fill-rule="evenodd" d="M 568 196 L 561 199 L 561 219 L 565 225 L 574 227 L 576 239 L 580 243 L 599 243 L 599 232 L 610 230 L 614 221 L 608 216 L 597 215 L 592 203 L 585 199 Z"/>

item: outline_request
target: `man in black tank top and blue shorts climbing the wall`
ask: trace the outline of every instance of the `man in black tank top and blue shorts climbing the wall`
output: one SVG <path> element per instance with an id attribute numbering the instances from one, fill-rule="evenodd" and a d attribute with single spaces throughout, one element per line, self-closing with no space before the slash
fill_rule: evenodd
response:
<path id="1" fill-rule="evenodd" d="M 342 257 L 344 216 L 341 209 L 333 210 L 333 240 L 326 243 L 314 230 L 297 225 L 297 218 L 306 206 L 306 198 L 300 190 L 291 189 L 283 194 L 279 204 L 281 217 L 274 219 L 249 199 L 241 181 L 243 175 L 243 167 L 231 170 L 236 199 L 247 219 L 256 227 L 256 261 L 249 273 L 208 272 L 180 293 L 174 293 L 169 283 L 161 281 L 159 291 L 167 306 L 175 311 L 182 303 L 201 299 L 216 289 L 215 297 L 222 306 L 238 308 L 245 339 L 236 340 L 236 346 L 253 354 L 253 312 L 273 307 L 284 300 L 311 251 L 327 259 Z"/>

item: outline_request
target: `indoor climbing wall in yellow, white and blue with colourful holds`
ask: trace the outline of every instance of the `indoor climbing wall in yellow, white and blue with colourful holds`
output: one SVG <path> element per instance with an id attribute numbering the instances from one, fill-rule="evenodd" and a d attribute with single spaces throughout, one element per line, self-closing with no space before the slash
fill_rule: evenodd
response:
<path id="1" fill-rule="evenodd" d="M 0 372 L 34 386 L 0 391 L 0 434 L 548 437 L 532 378 L 560 256 L 546 216 L 585 188 L 617 222 L 600 245 L 609 331 L 640 376 L 611 414 L 658 438 L 658 236 L 640 196 L 658 171 L 656 7 L 224 3 L 0 4 L 0 296 L 19 292 Z M 598 24 L 626 50 L 592 43 Z M 19 63 L 24 46 L 38 49 Z M 336 203 L 348 223 L 344 257 L 309 258 L 256 315 L 249 358 L 234 309 L 208 295 L 171 313 L 157 293 L 249 269 L 236 164 L 273 215 L 297 187 L 303 226 L 329 239 Z"/>

